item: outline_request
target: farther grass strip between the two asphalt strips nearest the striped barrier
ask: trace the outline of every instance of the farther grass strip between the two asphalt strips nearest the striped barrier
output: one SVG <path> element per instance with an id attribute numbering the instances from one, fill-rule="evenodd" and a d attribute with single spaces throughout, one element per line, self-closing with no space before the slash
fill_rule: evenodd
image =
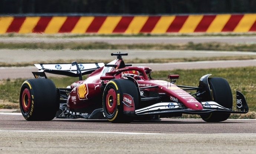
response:
<path id="1" fill-rule="evenodd" d="M 212 51 L 256 51 L 256 44 L 227 44 L 219 42 L 186 44 L 108 44 L 106 42 L 68 43 L 3 43 L 0 49 L 53 49 L 53 50 L 92 50 L 92 49 L 144 49 L 144 50 L 212 50 Z"/>

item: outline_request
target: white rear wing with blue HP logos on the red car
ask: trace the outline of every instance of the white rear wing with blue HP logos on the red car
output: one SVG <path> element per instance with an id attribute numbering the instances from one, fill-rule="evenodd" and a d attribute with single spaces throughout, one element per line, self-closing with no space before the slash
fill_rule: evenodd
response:
<path id="1" fill-rule="evenodd" d="M 65 75 L 71 77 L 80 77 L 82 75 L 90 74 L 96 69 L 104 66 L 104 63 L 77 63 L 72 64 L 35 64 L 38 72 L 47 72 L 58 75 Z M 36 72 L 32 72 L 34 75 Z M 35 76 L 36 77 L 36 76 Z"/>

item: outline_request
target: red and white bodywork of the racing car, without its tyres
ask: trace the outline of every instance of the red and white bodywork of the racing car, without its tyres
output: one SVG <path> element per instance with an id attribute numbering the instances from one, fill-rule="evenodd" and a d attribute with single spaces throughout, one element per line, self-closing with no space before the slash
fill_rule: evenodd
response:
<path id="1" fill-rule="evenodd" d="M 174 117 L 182 114 L 208 115 L 210 113 L 247 113 L 249 108 L 245 97 L 236 92 L 236 110 L 224 107 L 213 99 L 212 89 L 209 85 L 209 76 L 204 75 L 198 87 L 175 85 L 178 75 L 167 75 L 165 79 L 151 77 L 152 69 L 146 66 L 134 67 L 125 64 L 122 56 L 126 53 L 112 54 L 117 59 L 109 64 L 90 63 L 78 64 L 35 64 L 38 72 L 33 72 L 36 78 L 47 78 L 44 72 L 79 77 L 79 81 L 72 83 L 67 88 L 57 88 L 59 110 L 57 118 L 84 118 L 105 119 L 104 107 L 106 103 L 112 107 L 112 100 L 122 103 L 122 113 L 132 119 L 153 119 L 159 117 Z M 89 74 L 83 80 L 82 75 Z M 116 80 L 129 80 L 135 85 L 133 90 L 139 98 L 134 99 L 128 93 L 112 93 L 108 101 L 104 96 L 106 86 L 112 83 L 114 89 L 129 89 L 130 85 L 119 87 Z M 113 88 L 112 88 L 113 89 Z M 195 91 L 194 93 L 188 91 Z M 112 110 L 112 109 L 111 109 Z M 112 111 L 111 111 L 112 112 Z"/>

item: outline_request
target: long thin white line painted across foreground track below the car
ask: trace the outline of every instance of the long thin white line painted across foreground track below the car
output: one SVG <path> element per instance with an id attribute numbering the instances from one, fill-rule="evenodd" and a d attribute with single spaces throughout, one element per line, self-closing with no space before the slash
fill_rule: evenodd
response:
<path id="1" fill-rule="evenodd" d="M 0 130 L 7 132 L 35 132 L 35 133 L 101 133 L 101 134 L 128 134 L 128 135 L 159 135 L 163 133 L 133 133 L 115 131 L 46 131 L 46 130 Z"/>

